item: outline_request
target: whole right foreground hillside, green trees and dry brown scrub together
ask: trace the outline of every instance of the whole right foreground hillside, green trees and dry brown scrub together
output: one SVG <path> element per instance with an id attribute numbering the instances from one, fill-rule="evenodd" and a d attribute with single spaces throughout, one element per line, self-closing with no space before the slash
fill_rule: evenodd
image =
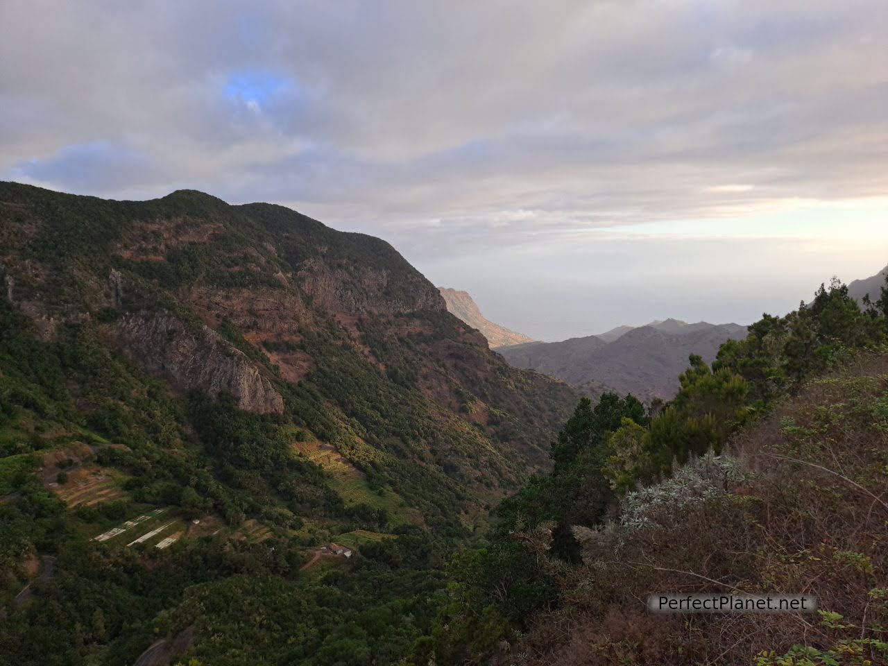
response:
<path id="1" fill-rule="evenodd" d="M 454 662 L 888 662 L 888 291 L 811 305 L 699 357 L 675 400 L 581 401 L 554 471 L 457 557 Z M 811 594 L 816 614 L 654 615 L 655 593 Z M 481 626 L 483 630 L 479 631 Z M 516 640 L 511 650 L 503 638 Z"/>

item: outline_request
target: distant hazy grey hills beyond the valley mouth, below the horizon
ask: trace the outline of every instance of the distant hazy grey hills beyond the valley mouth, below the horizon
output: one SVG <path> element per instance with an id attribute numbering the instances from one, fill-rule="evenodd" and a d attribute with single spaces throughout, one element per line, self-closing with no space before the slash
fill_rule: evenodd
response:
<path id="1" fill-rule="evenodd" d="M 686 369 L 690 354 L 711 362 L 722 343 L 746 334 L 746 327 L 739 324 L 667 319 L 637 328 L 620 326 L 598 336 L 496 351 L 516 368 L 558 377 L 592 396 L 612 390 L 642 400 L 669 400 L 678 391 L 678 374 Z"/>

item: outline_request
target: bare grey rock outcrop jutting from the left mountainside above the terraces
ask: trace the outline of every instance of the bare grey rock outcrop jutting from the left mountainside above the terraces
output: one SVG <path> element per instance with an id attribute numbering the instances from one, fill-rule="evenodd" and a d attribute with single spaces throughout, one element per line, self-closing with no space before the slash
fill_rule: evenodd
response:
<path id="1" fill-rule="evenodd" d="M 115 333 L 143 368 L 179 388 L 202 388 L 214 396 L 228 392 L 240 408 L 258 414 L 283 411 L 281 394 L 246 354 L 207 326 L 194 333 L 169 314 L 141 313 L 119 321 Z"/>

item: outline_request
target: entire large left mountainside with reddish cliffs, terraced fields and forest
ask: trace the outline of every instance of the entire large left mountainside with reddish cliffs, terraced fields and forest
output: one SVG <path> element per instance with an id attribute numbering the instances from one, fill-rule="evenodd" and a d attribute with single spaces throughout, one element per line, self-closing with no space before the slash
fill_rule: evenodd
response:
<path id="1" fill-rule="evenodd" d="M 423 631 L 417 582 L 434 591 L 448 544 L 548 467 L 575 402 L 388 243 L 280 206 L 2 183 L 0 265 L 0 663 L 131 663 L 195 626 L 211 663 L 242 663 L 242 631 L 213 646 L 188 606 L 238 586 L 273 590 L 266 610 L 305 599 L 284 604 L 305 631 L 288 662 L 341 662 L 345 618 L 355 654 L 394 659 Z M 334 540 L 392 564 L 314 586 L 299 567 Z M 401 625 L 359 616 L 377 607 L 415 623 L 382 638 Z"/>

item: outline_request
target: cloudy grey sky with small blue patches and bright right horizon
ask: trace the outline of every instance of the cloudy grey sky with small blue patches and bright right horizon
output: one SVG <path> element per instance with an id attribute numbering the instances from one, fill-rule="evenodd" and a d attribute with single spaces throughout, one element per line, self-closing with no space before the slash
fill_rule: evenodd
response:
<path id="1" fill-rule="evenodd" d="M 888 264 L 884 0 L 4 0 L 0 179 L 385 238 L 557 340 Z"/>

